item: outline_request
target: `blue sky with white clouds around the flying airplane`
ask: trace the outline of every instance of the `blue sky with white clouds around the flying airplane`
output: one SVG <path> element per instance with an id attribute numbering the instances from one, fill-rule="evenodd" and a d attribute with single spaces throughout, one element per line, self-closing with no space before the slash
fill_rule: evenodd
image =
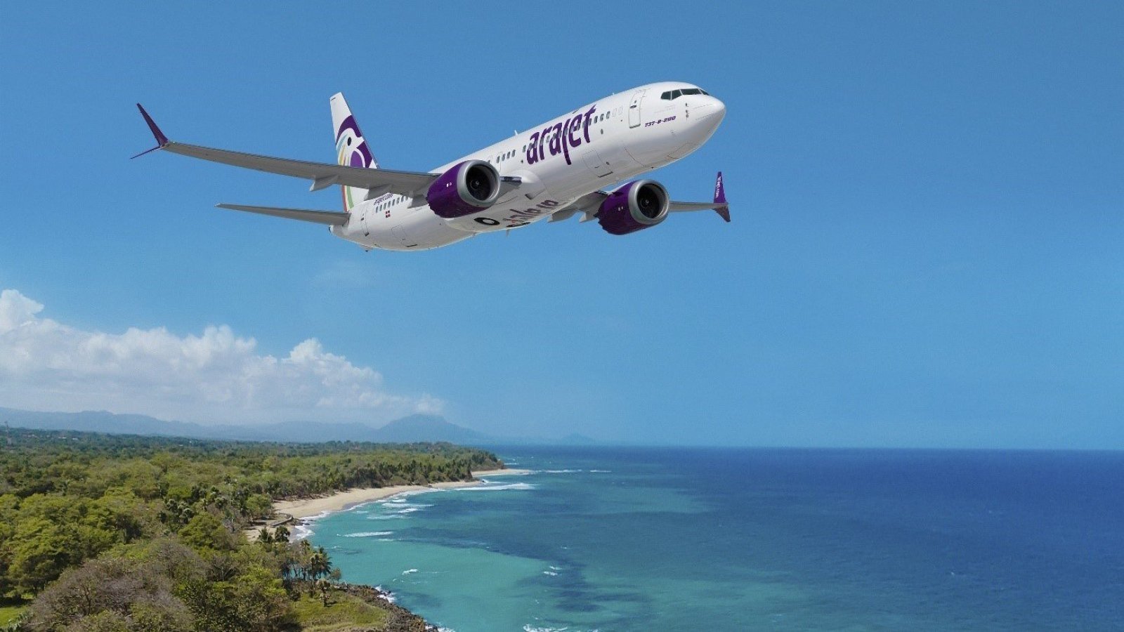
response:
<path id="1" fill-rule="evenodd" d="M 136 101 L 174 139 L 332 161 L 342 90 L 383 166 L 427 170 L 659 80 L 725 101 L 654 177 L 707 199 L 724 171 L 732 224 L 364 253 L 212 208 L 335 191 L 128 160 L 152 145 Z M 1124 448 L 1118 2 L 9 3 L 0 85 L 0 406 Z M 123 347 L 144 379 L 110 367 Z"/>

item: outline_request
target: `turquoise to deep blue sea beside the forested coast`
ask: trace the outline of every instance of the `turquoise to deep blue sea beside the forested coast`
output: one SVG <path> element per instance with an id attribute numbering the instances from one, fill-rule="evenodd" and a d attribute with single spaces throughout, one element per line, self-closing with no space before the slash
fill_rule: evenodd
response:
<path id="1" fill-rule="evenodd" d="M 456 632 L 1124 630 L 1124 452 L 497 453 L 311 540 Z"/>

